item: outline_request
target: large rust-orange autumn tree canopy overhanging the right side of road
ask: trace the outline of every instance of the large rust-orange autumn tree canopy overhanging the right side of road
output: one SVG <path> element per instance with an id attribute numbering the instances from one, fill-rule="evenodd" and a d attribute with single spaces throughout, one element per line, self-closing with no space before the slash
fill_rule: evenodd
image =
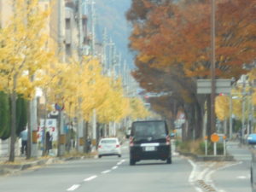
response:
<path id="1" fill-rule="evenodd" d="M 255 13 L 255 0 L 217 1 L 218 78 L 238 79 L 242 73 L 246 73 L 244 63 L 255 59 Z M 131 49 L 137 51 L 135 78 L 147 89 L 155 76 L 149 80 L 141 77 L 147 76 L 149 71 L 151 74 L 156 70 L 166 73 L 166 81 L 172 79 L 179 85 L 178 90 L 171 87 L 172 93 L 186 98 L 183 101 L 179 99 L 181 106 L 190 103 L 186 111 L 189 113 L 191 108 L 195 108 L 199 121 L 202 120 L 200 116 L 203 114 L 204 99 L 196 96 L 195 83 L 196 79 L 207 79 L 210 75 L 210 15 L 210 3 L 207 0 L 178 3 L 133 0 L 126 15 L 133 25 Z M 189 79 L 189 89 L 184 79 Z M 155 78 L 154 82 L 157 80 Z M 157 85 L 151 84 L 151 87 Z M 160 92 L 157 89 L 160 88 L 155 88 Z M 201 127 L 201 122 L 198 125 Z"/>

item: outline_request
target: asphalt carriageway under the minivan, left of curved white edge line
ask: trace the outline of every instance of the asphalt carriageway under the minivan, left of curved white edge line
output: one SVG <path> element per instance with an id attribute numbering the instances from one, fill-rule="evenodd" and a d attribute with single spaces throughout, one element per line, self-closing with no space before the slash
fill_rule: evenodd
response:
<path id="1" fill-rule="evenodd" d="M 129 166 L 127 146 L 121 158 L 73 160 L 0 178 L 0 192 L 195 192 L 192 166 L 174 156 L 173 163 L 146 160 Z"/>

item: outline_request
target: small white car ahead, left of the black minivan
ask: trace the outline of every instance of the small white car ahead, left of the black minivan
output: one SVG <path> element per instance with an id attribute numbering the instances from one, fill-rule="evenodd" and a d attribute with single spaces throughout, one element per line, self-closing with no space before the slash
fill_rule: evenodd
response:
<path id="1" fill-rule="evenodd" d="M 121 157 L 121 145 L 118 138 L 102 138 L 98 145 L 98 157 L 118 155 Z"/>

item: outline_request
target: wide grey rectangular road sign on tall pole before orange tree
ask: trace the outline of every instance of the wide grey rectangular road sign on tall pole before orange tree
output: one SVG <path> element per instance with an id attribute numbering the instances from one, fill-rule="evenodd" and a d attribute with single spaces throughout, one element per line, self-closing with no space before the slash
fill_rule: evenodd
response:
<path id="1" fill-rule="evenodd" d="M 216 93 L 230 94 L 231 79 L 216 79 Z M 197 94 L 210 94 L 212 92 L 211 79 L 198 79 L 197 80 Z"/>

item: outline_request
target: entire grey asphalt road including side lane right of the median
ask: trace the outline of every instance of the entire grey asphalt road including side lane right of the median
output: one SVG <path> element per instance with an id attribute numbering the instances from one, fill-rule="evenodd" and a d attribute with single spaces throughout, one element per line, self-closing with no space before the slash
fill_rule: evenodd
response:
<path id="1" fill-rule="evenodd" d="M 236 162 L 195 162 L 173 154 L 172 164 L 144 160 L 129 165 L 123 155 L 71 160 L 0 177 L 0 192 L 250 192 L 251 154 L 237 143 L 228 150 Z"/>

